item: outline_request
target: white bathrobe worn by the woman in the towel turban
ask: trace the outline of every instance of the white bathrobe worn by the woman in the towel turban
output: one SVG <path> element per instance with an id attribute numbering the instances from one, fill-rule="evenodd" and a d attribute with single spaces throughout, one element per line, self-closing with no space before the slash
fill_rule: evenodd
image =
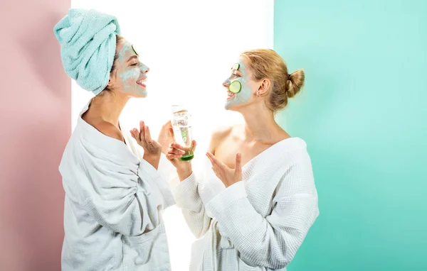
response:
<path id="1" fill-rule="evenodd" d="M 169 185 L 127 133 L 125 145 L 81 114 L 59 167 L 65 189 L 62 270 L 170 270 L 161 216 L 174 204 Z"/>

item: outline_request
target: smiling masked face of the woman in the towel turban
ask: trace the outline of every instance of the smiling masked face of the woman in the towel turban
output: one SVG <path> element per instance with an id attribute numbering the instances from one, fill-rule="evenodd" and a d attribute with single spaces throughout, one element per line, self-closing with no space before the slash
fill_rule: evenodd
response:
<path id="1" fill-rule="evenodd" d="M 137 51 L 127 40 L 117 44 L 116 54 L 115 70 L 110 74 L 108 85 L 130 96 L 146 97 L 149 67 L 139 62 Z"/>

